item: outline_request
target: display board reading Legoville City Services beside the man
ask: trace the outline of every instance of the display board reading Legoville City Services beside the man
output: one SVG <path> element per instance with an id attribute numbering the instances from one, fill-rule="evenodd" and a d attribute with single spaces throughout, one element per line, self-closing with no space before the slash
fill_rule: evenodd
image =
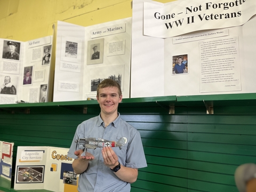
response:
<path id="1" fill-rule="evenodd" d="M 77 191 L 78 175 L 68 148 L 18 147 L 14 189 Z"/>

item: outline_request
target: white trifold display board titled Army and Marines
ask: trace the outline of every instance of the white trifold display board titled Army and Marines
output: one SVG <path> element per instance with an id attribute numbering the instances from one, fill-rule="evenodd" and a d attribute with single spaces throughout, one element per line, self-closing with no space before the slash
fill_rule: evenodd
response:
<path id="1" fill-rule="evenodd" d="M 53 101 L 96 98 L 111 78 L 130 97 L 131 18 L 82 27 L 58 21 Z"/>

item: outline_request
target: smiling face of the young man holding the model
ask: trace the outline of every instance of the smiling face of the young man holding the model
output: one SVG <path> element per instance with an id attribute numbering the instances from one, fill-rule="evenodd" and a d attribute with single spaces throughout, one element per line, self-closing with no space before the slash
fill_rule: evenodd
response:
<path id="1" fill-rule="evenodd" d="M 119 102 L 122 101 L 122 95 L 118 94 L 117 87 L 105 87 L 99 89 L 97 101 L 100 105 L 101 114 L 112 115 L 117 114 Z"/>

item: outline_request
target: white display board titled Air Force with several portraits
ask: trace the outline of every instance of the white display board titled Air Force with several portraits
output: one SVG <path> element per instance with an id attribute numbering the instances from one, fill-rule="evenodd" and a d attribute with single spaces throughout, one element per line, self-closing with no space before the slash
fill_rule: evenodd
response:
<path id="1" fill-rule="evenodd" d="M 0 39 L 0 104 L 51 101 L 52 42 L 52 36 L 28 42 Z"/>

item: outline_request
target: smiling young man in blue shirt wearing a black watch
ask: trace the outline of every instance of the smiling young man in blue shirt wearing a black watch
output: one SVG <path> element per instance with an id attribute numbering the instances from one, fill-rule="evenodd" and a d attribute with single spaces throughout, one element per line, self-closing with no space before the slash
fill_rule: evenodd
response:
<path id="1" fill-rule="evenodd" d="M 68 152 L 74 158 L 73 169 L 79 175 L 78 191 L 130 191 L 137 180 L 138 169 L 146 167 L 146 158 L 140 133 L 126 123 L 117 112 L 122 101 L 120 85 L 113 79 L 105 79 L 97 88 L 100 115 L 79 124 Z M 103 147 L 76 150 L 78 138 L 98 138 L 118 141 L 125 137 L 126 144 L 118 147 Z"/>

